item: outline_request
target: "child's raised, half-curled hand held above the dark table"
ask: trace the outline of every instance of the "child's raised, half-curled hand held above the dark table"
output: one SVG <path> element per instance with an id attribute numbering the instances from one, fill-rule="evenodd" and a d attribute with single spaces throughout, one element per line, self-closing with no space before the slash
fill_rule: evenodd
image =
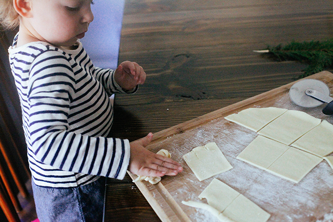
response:
<path id="1" fill-rule="evenodd" d="M 125 91 L 134 89 L 145 81 L 145 72 L 137 63 L 122 62 L 114 72 L 114 78 L 118 85 Z"/>

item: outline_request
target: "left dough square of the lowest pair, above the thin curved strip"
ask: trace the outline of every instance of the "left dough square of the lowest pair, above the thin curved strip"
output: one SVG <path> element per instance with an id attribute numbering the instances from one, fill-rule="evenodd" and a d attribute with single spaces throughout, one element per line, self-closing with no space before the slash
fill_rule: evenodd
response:
<path id="1" fill-rule="evenodd" d="M 222 212 L 239 194 L 233 188 L 214 178 L 198 197 L 205 198 L 210 206 Z"/>

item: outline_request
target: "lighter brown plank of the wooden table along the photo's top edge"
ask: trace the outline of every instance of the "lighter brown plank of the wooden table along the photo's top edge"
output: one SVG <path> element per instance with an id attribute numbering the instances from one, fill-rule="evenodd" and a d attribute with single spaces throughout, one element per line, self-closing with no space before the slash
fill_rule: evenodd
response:
<path id="1" fill-rule="evenodd" d="M 290 38 L 306 41 L 331 34 L 329 24 L 322 23 L 331 19 L 329 1 L 207 1 L 205 6 L 194 2 L 141 1 L 146 9 L 125 11 L 121 53 L 248 43 L 265 47 Z M 128 2 L 127 6 L 137 5 Z"/>

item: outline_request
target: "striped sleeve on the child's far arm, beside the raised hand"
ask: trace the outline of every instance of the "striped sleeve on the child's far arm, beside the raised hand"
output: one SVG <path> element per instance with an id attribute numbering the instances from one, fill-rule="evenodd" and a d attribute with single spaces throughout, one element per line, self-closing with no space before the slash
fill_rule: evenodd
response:
<path id="1" fill-rule="evenodd" d="M 116 82 L 114 78 L 114 71 L 112 69 L 101 69 L 95 68 L 94 76 L 103 85 L 104 89 L 107 91 L 108 95 L 111 96 L 114 93 L 135 93 L 138 90 L 136 86 L 131 91 L 124 91 Z"/>

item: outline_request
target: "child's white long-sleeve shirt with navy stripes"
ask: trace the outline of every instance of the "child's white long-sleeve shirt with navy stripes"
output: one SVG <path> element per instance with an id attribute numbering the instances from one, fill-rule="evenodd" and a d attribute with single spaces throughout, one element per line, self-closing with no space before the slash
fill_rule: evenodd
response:
<path id="1" fill-rule="evenodd" d="M 106 138 L 113 121 L 109 96 L 125 93 L 113 70 L 95 68 L 82 47 L 43 42 L 9 48 L 23 114 L 34 182 L 76 187 L 98 176 L 122 179 L 130 159 L 127 139 Z"/>

